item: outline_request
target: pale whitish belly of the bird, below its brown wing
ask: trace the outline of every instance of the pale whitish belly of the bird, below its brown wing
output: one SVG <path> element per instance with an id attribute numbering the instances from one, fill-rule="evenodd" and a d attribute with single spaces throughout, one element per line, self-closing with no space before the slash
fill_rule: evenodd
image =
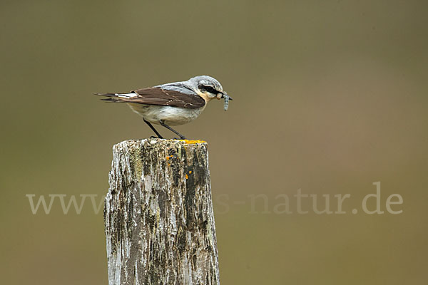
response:
<path id="1" fill-rule="evenodd" d="M 170 106 L 145 105 L 128 103 L 129 107 L 145 120 L 153 124 L 159 124 L 159 120 L 164 120 L 166 125 L 183 125 L 198 118 L 205 105 L 198 109 L 187 109 Z"/>

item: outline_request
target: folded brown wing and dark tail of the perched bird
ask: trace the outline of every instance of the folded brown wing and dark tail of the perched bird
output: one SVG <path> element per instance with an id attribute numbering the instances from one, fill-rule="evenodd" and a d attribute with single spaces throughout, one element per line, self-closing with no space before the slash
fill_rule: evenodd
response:
<path id="1" fill-rule="evenodd" d="M 131 93 L 135 93 L 134 96 L 126 97 L 121 96 L 121 94 L 99 94 L 108 99 L 104 99 L 110 102 L 125 102 L 125 103 L 140 103 L 148 105 L 164 105 L 164 106 L 173 106 L 181 108 L 196 109 L 201 108 L 205 105 L 205 100 L 197 94 L 185 94 L 173 90 L 165 90 L 158 87 L 143 88 L 138 90 L 133 90 Z"/>

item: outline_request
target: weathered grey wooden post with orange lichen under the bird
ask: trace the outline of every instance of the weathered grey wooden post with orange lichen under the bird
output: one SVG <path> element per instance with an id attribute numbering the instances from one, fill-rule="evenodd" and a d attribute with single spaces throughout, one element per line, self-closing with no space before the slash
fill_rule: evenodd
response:
<path id="1" fill-rule="evenodd" d="M 108 284 L 220 284 L 206 142 L 120 142 L 109 183 Z"/>

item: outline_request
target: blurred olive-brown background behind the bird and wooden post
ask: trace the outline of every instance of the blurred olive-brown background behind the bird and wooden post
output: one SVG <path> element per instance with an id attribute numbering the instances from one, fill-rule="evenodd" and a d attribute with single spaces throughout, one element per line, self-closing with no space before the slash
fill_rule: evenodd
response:
<path id="1" fill-rule="evenodd" d="M 1 284 L 107 284 L 102 211 L 32 214 L 26 195 L 101 197 L 111 147 L 153 135 L 92 92 L 201 74 L 234 98 L 177 127 L 209 143 L 222 284 L 426 284 L 426 1 L 0 7 Z M 402 214 L 362 213 L 377 181 Z M 350 194 L 347 214 L 272 212 L 298 189 Z"/>

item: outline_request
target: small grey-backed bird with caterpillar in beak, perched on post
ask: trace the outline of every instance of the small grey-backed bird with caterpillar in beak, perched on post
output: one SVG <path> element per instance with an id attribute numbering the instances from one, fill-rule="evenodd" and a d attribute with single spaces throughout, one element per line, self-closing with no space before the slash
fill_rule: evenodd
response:
<path id="1" fill-rule="evenodd" d="M 166 83 L 151 88 L 132 90 L 128 93 L 93 93 L 108 97 L 101 99 L 106 102 L 127 103 L 144 122 L 156 133 L 162 135 L 152 124 L 161 125 L 185 140 L 170 125 L 183 125 L 198 118 L 210 100 L 224 99 L 224 110 L 228 110 L 228 93 L 223 91 L 220 82 L 210 76 L 196 76 L 188 81 Z"/>

